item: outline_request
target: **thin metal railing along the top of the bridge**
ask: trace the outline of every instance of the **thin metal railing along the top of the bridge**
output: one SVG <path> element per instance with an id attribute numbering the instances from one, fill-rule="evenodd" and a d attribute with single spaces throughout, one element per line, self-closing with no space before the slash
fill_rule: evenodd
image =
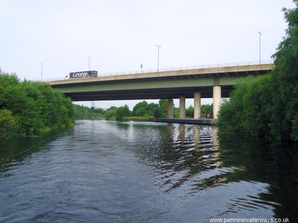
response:
<path id="1" fill-rule="evenodd" d="M 101 74 L 98 74 L 97 77 L 129 75 L 129 74 L 143 74 L 143 73 L 155 73 L 155 72 L 166 72 L 166 71 L 179 71 L 179 70 L 205 69 L 205 68 L 217 68 L 217 67 L 229 67 L 229 66 L 247 66 L 247 65 L 258 65 L 258 64 L 272 64 L 272 63 L 274 63 L 274 61 L 272 59 L 270 59 L 270 60 L 261 60 L 261 61 L 258 60 L 258 61 L 248 61 L 248 62 L 218 63 L 218 64 L 208 64 L 208 65 L 197 65 L 197 66 L 180 66 L 180 67 L 161 68 L 161 69 L 135 70 L 135 71 L 126 71 L 126 72 L 114 72 L 114 73 L 101 73 Z M 88 78 L 88 77 L 86 77 L 86 78 Z M 52 79 L 44 79 L 44 80 L 42 80 L 42 82 L 61 81 L 61 80 L 66 80 L 66 79 L 65 78 L 52 78 Z M 37 81 L 41 81 L 41 80 L 37 80 Z"/>

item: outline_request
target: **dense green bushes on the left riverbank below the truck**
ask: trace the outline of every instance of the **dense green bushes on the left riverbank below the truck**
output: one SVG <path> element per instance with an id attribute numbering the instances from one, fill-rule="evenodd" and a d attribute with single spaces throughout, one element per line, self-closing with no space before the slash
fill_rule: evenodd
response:
<path id="1" fill-rule="evenodd" d="M 44 83 L 20 82 L 15 74 L 0 70 L 0 139 L 34 135 L 73 122 L 72 100 L 59 90 Z"/>

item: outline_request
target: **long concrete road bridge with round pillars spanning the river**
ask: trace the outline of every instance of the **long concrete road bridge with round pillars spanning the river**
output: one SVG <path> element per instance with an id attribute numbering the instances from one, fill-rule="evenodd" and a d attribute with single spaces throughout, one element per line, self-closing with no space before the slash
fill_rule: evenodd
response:
<path id="1" fill-rule="evenodd" d="M 168 118 L 173 118 L 173 99 L 180 99 L 180 118 L 185 118 L 185 99 L 194 98 L 194 118 L 199 118 L 201 98 L 213 98 L 213 113 L 217 119 L 221 98 L 229 97 L 240 78 L 263 75 L 273 68 L 274 64 L 269 60 L 45 81 L 73 101 L 168 99 Z"/>

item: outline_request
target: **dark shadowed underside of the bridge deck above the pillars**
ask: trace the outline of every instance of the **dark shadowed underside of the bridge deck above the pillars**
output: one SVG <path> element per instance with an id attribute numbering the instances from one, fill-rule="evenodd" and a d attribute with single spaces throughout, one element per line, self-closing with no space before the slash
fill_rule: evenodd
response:
<path id="1" fill-rule="evenodd" d="M 222 98 L 228 98 L 233 86 L 222 86 Z M 194 92 L 201 92 L 201 98 L 213 98 L 213 86 L 208 87 L 182 87 L 182 88 L 157 88 L 135 89 L 97 92 L 72 92 L 64 93 L 73 101 L 113 101 L 113 100 L 149 100 L 149 99 L 179 99 L 194 98 Z"/>

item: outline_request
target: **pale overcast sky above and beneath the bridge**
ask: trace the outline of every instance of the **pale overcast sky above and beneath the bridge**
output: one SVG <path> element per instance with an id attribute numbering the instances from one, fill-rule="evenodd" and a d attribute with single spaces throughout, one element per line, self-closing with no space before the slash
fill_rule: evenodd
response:
<path id="1" fill-rule="evenodd" d="M 23 79 L 270 59 L 292 0 L 0 0 L 0 68 Z M 156 100 L 147 100 L 157 102 Z M 95 102 L 99 108 L 140 100 Z M 174 100 L 179 106 L 179 100 Z M 202 99 L 212 103 L 212 99 Z M 82 104 L 82 103 L 77 103 Z M 90 102 L 83 103 L 90 106 Z M 193 104 L 187 99 L 186 106 Z"/>

